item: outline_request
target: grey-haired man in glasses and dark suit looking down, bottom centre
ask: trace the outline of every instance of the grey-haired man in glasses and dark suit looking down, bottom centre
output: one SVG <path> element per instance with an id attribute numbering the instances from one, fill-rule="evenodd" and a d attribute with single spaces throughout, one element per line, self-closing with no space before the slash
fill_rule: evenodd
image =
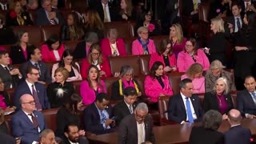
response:
<path id="1" fill-rule="evenodd" d="M 154 143 L 153 119 L 148 114 L 146 103 L 136 106 L 134 114 L 122 119 L 118 128 L 118 143 Z"/>

